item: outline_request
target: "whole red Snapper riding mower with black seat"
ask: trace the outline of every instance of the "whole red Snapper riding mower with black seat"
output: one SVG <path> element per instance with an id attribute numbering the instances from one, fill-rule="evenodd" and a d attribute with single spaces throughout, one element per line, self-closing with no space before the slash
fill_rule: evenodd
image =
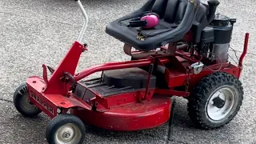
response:
<path id="1" fill-rule="evenodd" d="M 51 119 L 49 143 L 82 143 L 88 126 L 106 130 L 146 130 L 170 118 L 172 96 L 188 99 L 188 114 L 198 128 L 226 125 L 242 105 L 239 81 L 246 55 L 246 33 L 238 66 L 228 59 L 235 19 L 215 14 L 219 2 L 149 0 L 142 8 L 110 22 L 106 33 L 124 42 L 127 62 L 91 66 L 75 74 L 87 45 L 85 23 L 56 69 L 42 65 L 14 93 L 14 106 L 26 117 L 42 111 Z M 51 73 L 47 78 L 48 70 Z M 98 78 L 90 74 L 102 72 Z"/>

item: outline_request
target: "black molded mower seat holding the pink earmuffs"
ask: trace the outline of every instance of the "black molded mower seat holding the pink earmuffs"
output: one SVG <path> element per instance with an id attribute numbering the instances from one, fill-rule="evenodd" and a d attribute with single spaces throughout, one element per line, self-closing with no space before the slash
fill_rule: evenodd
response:
<path id="1" fill-rule="evenodd" d="M 181 40 L 193 25 L 198 6 L 200 0 L 149 0 L 134 13 L 110 22 L 106 33 L 137 50 L 154 50 Z M 158 26 L 154 29 L 127 26 L 131 18 L 142 17 L 148 12 L 159 15 Z"/>

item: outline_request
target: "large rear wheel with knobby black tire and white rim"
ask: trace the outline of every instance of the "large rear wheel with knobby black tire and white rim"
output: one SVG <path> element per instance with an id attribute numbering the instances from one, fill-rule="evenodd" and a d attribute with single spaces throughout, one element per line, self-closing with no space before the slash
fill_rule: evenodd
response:
<path id="1" fill-rule="evenodd" d="M 188 99 L 190 119 L 199 128 L 210 130 L 229 123 L 240 110 L 242 83 L 222 72 L 202 78 Z"/>

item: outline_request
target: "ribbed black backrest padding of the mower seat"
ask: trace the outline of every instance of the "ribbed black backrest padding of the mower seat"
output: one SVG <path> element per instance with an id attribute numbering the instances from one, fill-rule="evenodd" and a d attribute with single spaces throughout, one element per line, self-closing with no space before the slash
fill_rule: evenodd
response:
<path id="1" fill-rule="evenodd" d="M 165 22 L 178 24 L 182 21 L 186 6 L 187 0 L 156 0 L 151 10 Z"/>

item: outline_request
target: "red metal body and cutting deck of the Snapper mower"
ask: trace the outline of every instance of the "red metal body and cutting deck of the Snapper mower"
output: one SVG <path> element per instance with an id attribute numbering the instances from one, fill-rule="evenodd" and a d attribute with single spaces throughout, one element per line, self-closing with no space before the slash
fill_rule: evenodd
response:
<path id="1" fill-rule="evenodd" d="M 223 63 L 220 71 L 233 74 L 237 78 L 240 77 L 248 39 L 249 34 L 246 34 L 239 65 Z M 200 74 L 190 74 L 188 66 L 198 60 L 190 58 L 187 53 L 177 51 L 175 56 L 160 55 L 128 62 L 110 62 L 91 66 L 75 74 L 78 60 L 84 50 L 86 50 L 85 46 L 74 42 L 49 80 L 46 65 L 43 65 L 42 78 L 38 76 L 27 78 L 30 101 L 50 118 L 54 118 L 58 114 L 57 109 L 60 108 L 62 113 L 70 110 L 84 122 L 110 130 L 143 130 L 161 125 L 170 118 L 171 101 L 169 97 L 172 95 L 189 97 L 190 90 L 194 85 L 207 74 L 211 74 L 211 70 L 217 70 L 220 66 L 218 63 L 213 64 L 208 66 L 211 70 L 204 68 Z M 143 66 L 160 66 L 169 89 L 150 89 L 148 81 L 145 89 L 102 97 L 97 91 L 90 90 L 85 86 L 86 90 L 90 90 L 94 94 L 94 98 L 91 98 L 90 102 L 84 102 L 82 98 L 78 98 L 70 91 L 73 86 L 68 82 L 78 82 L 95 72 Z M 69 74 L 69 77 L 66 77 L 65 74 Z M 187 86 L 188 83 L 189 86 Z M 188 89 L 174 90 L 177 86 L 186 86 Z M 93 109 L 95 106 L 97 106 L 96 110 Z"/>

